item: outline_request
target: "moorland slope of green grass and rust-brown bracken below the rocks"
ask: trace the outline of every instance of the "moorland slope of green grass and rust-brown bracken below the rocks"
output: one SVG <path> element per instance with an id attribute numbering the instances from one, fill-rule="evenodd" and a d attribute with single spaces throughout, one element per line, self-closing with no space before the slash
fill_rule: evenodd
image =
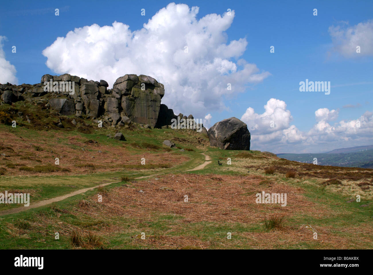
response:
<path id="1" fill-rule="evenodd" d="M 18 126 L 0 124 L 0 193 L 30 193 L 32 204 L 113 182 L 38 208 L 0 204 L 1 249 L 373 249 L 371 169 L 224 151 L 192 130 L 1 108 Z M 107 136 L 117 130 L 126 141 Z M 256 203 L 262 191 L 286 193 L 287 205 Z M 1 213 L 17 208 L 26 210 Z"/>

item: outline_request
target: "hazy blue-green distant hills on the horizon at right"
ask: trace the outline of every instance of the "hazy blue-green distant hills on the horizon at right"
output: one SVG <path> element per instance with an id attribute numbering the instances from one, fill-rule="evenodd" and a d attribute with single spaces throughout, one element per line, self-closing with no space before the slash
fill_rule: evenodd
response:
<path id="1" fill-rule="evenodd" d="M 373 169 L 373 145 L 335 149 L 327 153 L 277 154 L 277 156 L 304 163 L 313 163 L 314 158 L 317 158 L 318 165 Z"/>

